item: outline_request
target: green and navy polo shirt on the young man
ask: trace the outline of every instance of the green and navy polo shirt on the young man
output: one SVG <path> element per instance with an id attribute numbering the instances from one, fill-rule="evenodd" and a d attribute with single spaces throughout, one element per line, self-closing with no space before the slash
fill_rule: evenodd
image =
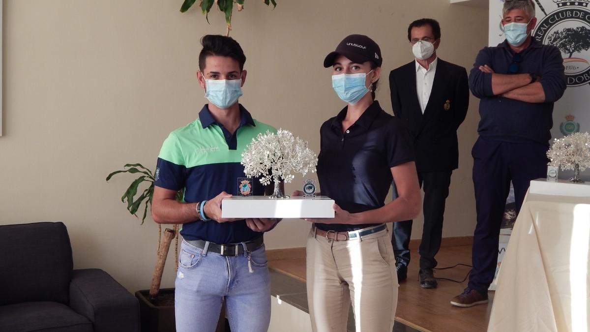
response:
<path id="1" fill-rule="evenodd" d="M 246 145 L 260 133 L 276 129 L 252 118 L 240 105 L 240 126 L 232 135 L 215 121 L 205 105 L 199 118 L 176 129 L 166 138 L 158 156 L 155 185 L 169 190 L 185 188 L 186 203 L 209 200 L 221 191 L 238 194 L 238 178 L 246 177 L 240 164 Z M 253 194 L 264 195 L 264 186 L 254 179 Z M 246 226 L 245 220 L 218 223 L 214 220 L 185 223 L 181 235 L 187 240 L 228 244 L 254 240 L 262 233 Z"/>

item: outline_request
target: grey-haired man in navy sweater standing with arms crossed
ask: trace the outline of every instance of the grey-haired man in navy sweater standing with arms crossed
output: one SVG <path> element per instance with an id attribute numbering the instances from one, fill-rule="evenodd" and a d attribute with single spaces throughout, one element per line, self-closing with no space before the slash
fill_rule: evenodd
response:
<path id="1" fill-rule="evenodd" d="M 477 226 L 468 287 L 451 300 L 458 307 L 487 302 L 510 181 L 518 213 L 530 180 L 546 175 L 553 103 L 566 87 L 558 48 L 530 35 L 535 4 L 506 0 L 502 12 L 506 40 L 484 47 L 469 77 L 471 92 L 481 99 L 479 138 L 471 152 Z"/>

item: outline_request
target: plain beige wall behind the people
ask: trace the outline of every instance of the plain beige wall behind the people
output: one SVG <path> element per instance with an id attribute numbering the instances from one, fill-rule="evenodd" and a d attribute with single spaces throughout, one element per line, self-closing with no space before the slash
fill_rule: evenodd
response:
<path id="1" fill-rule="evenodd" d="M 62 220 L 76 268 L 99 267 L 132 291 L 149 286 L 156 224 L 143 226 L 119 201 L 131 177 L 104 178 L 127 162 L 154 167 L 163 139 L 205 103 L 195 80 L 199 37 L 225 32 L 182 0 L 4 0 L 4 136 L 0 137 L 0 224 Z M 407 24 L 434 17 L 439 55 L 470 67 L 487 41 L 487 11 L 448 0 L 248 0 L 234 31 L 248 57 L 243 103 L 255 118 L 290 129 L 319 149 L 319 126 L 343 104 L 323 57 L 347 34 L 382 47 L 381 105 L 391 112 L 387 73 L 411 60 Z M 477 100 L 460 129 L 444 236 L 474 227 L 470 148 Z M 301 179 L 288 185 L 299 187 Z M 345 180 L 345 179 L 344 179 Z M 421 222 L 413 237 L 419 237 Z M 268 248 L 304 246 L 309 224 L 286 220 Z M 172 287 L 166 269 L 163 287 Z"/>

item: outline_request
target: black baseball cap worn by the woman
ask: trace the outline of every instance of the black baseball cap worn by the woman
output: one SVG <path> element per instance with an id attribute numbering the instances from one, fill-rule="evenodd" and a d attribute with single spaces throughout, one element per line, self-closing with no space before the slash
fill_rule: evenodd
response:
<path id="1" fill-rule="evenodd" d="M 336 51 L 330 52 L 324 59 L 324 67 L 332 67 L 334 59 L 339 55 L 345 56 L 355 63 L 371 61 L 378 67 L 381 67 L 381 63 L 383 63 L 381 48 L 366 35 L 349 35 L 340 41 Z"/>

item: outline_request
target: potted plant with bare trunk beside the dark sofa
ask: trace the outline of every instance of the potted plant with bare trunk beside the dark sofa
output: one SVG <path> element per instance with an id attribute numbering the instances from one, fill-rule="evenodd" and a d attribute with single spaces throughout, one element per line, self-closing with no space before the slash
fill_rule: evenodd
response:
<path id="1" fill-rule="evenodd" d="M 137 217 L 137 211 L 143 206 L 142 224 L 148 216 L 148 208 L 152 205 L 154 190 L 154 175 L 151 170 L 143 167 L 142 164 L 126 164 L 123 170 L 114 171 L 106 178 L 107 181 L 115 174 L 119 173 L 139 174 L 133 180 L 127 190 L 123 193 L 121 201 L 127 203 L 129 213 Z M 140 187 L 147 187 L 138 195 Z M 176 193 L 176 200 L 183 201 L 184 190 Z M 172 240 L 175 242 L 175 268 L 178 269 L 178 224 L 172 226 L 172 229 L 165 229 L 162 236 L 162 226 L 158 224 L 158 251 L 156 266 L 153 271 L 152 282 L 149 290 L 135 292 L 139 300 L 140 319 L 143 332 L 152 331 L 175 331 L 174 318 L 174 288 L 160 289 L 162 274 L 166 265 L 166 257 L 170 249 Z"/>

